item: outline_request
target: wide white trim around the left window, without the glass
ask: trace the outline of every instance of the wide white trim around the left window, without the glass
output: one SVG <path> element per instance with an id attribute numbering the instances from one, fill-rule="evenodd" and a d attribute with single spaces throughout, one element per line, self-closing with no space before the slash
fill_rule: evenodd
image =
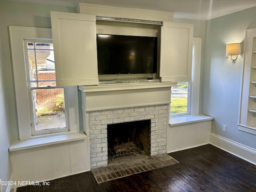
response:
<path id="1" fill-rule="evenodd" d="M 80 132 L 79 109 L 78 109 L 78 88 L 77 86 L 66 87 L 68 102 L 65 104 L 68 110 L 68 131 L 33 135 L 30 122 L 30 102 L 27 86 L 26 54 L 24 40 L 38 39 L 52 41 L 52 30 L 49 28 L 9 26 L 10 42 L 12 51 L 12 66 L 14 74 L 14 88 L 16 96 L 16 109 L 18 118 L 18 131 L 20 140 L 54 136 L 59 134 L 71 134 Z"/>

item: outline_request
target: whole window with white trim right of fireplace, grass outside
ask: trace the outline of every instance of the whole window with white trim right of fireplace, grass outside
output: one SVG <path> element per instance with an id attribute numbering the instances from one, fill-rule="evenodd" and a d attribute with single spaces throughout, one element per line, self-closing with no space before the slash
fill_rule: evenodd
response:
<path id="1" fill-rule="evenodd" d="M 192 80 L 172 87 L 170 117 L 199 114 L 201 38 L 193 38 Z"/>

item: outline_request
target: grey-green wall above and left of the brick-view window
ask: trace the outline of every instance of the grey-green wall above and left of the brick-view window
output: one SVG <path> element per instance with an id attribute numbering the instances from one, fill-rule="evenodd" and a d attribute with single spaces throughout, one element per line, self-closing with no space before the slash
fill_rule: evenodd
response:
<path id="1" fill-rule="evenodd" d="M 8 26 L 51 28 L 50 11 L 76 12 L 76 9 L 62 6 L 0 2 L 2 72 L 4 74 L 5 97 L 8 104 L 7 116 L 12 140 L 18 140 L 19 137 Z"/>

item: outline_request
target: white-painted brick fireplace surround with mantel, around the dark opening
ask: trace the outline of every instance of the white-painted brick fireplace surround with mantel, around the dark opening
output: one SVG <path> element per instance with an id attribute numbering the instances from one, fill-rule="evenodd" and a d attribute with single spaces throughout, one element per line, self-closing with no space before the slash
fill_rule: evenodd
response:
<path id="1" fill-rule="evenodd" d="M 84 86 L 91 168 L 108 166 L 108 125 L 149 120 L 148 153 L 166 153 L 171 86 L 175 82 Z M 144 148 L 144 146 L 142 147 Z"/>

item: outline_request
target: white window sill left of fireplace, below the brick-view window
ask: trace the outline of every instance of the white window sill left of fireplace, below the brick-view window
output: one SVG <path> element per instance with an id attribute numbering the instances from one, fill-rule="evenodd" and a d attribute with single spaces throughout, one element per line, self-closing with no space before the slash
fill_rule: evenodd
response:
<path id="1" fill-rule="evenodd" d="M 58 136 L 50 136 L 44 138 L 34 138 L 24 141 L 12 141 L 9 147 L 9 151 L 17 151 L 41 146 L 47 146 L 52 144 L 59 144 L 77 140 L 86 139 L 87 136 L 84 132 L 73 133 L 73 134 L 64 134 Z"/>

